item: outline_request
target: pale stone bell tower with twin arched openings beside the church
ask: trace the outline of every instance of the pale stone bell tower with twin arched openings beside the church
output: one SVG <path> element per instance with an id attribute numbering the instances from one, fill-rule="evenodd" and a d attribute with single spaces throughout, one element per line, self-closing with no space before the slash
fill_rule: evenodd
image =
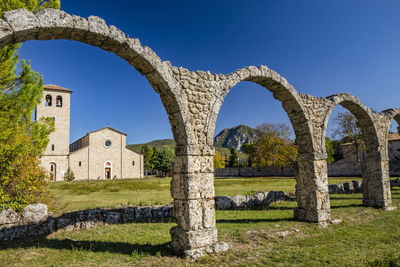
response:
<path id="1" fill-rule="evenodd" d="M 68 168 L 71 93 L 58 85 L 45 85 L 42 102 L 36 108 L 36 119 L 50 117 L 54 120 L 55 131 L 50 134 L 41 158 L 42 166 L 54 181 L 62 180 Z"/>

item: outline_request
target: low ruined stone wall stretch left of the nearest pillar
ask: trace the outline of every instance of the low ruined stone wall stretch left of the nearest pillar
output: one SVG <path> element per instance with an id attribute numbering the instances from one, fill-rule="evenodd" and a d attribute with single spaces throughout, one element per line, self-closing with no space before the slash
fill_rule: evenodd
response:
<path id="1" fill-rule="evenodd" d="M 172 206 L 89 209 L 53 217 L 47 213 L 46 205 L 36 204 L 25 207 L 22 215 L 12 209 L 0 212 L 0 241 L 106 224 L 161 221 L 172 221 Z"/>

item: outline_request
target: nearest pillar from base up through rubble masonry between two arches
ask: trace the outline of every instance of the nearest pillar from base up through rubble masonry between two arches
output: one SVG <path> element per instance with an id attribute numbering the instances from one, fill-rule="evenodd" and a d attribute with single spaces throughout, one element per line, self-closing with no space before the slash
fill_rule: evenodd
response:
<path id="1" fill-rule="evenodd" d="M 209 99 L 214 98 L 215 76 L 172 67 L 179 83 L 181 105 L 170 123 L 177 143 L 171 181 L 173 214 L 170 248 L 196 259 L 228 249 L 218 242 L 214 201 L 215 149 L 207 142 Z M 163 101 L 164 102 L 164 101 Z"/>

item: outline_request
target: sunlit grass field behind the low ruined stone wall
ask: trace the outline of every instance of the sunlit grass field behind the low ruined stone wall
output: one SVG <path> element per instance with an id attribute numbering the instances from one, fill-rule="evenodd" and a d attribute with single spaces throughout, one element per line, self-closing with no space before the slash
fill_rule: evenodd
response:
<path id="1" fill-rule="evenodd" d="M 357 178 L 354 178 L 357 179 Z M 358 178 L 360 179 L 360 178 Z M 349 181 L 351 178 L 332 178 L 329 183 Z M 128 205 L 161 205 L 172 202 L 171 178 L 145 178 L 111 181 L 55 182 L 50 184 L 54 195 L 53 211 L 60 214 L 88 208 L 115 208 Z M 215 194 L 237 195 L 252 191 L 295 191 L 295 180 L 287 177 L 216 178 Z"/>

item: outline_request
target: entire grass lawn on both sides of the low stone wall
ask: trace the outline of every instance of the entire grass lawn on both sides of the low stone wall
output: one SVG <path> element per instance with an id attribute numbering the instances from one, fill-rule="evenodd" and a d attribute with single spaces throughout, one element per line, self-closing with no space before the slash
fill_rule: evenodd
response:
<path id="1" fill-rule="evenodd" d="M 329 182 L 348 180 L 351 178 Z M 290 192 L 294 191 L 294 184 L 288 178 L 221 178 L 215 182 L 217 195 L 246 194 L 253 190 Z M 91 188 L 86 195 L 82 193 L 85 188 Z M 111 207 L 128 201 L 147 204 L 171 200 L 169 180 L 157 178 L 54 183 L 51 191 L 58 203 L 65 204 L 68 198 L 74 201 L 73 205 L 64 205 L 65 211 Z M 86 196 L 84 203 L 78 204 L 83 196 Z M 398 205 L 400 188 L 392 190 L 392 197 Z M 195 262 L 170 255 L 166 249 L 170 241 L 168 231 L 174 223 L 133 223 L 0 244 L 0 266 L 396 266 L 389 262 L 400 263 L 400 210 L 384 212 L 362 207 L 361 194 L 331 195 L 332 217 L 343 222 L 323 229 L 294 221 L 295 206 L 296 202 L 284 201 L 265 210 L 217 211 L 219 239 L 227 242 L 230 249 Z M 289 234 L 283 238 L 277 234 L 282 231 Z"/>

